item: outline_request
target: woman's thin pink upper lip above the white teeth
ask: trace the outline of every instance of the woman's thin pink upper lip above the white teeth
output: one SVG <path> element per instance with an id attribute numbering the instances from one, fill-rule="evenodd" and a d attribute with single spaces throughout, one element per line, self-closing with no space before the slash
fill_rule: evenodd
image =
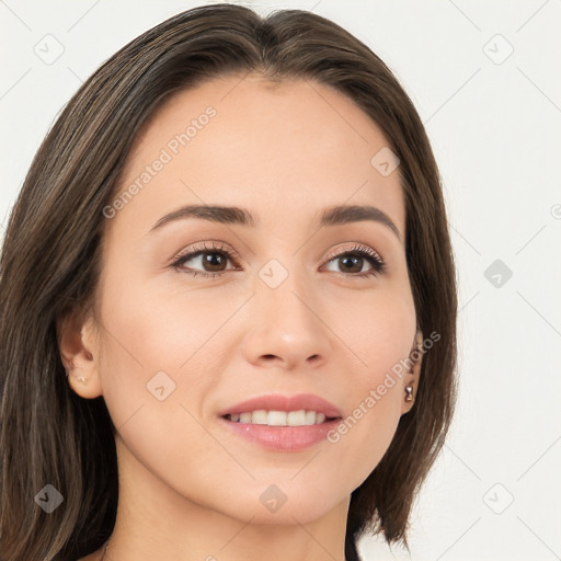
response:
<path id="1" fill-rule="evenodd" d="M 220 416 L 234 413 L 248 413 L 257 410 L 266 411 L 316 411 L 323 413 L 327 417 L 342 416 L 341 411 L 329 401 L 312 393 L 297 393 L 295 396 L 282 396 L 279 393 L 260 396 L 231 405 L 219 413 Z"/>

